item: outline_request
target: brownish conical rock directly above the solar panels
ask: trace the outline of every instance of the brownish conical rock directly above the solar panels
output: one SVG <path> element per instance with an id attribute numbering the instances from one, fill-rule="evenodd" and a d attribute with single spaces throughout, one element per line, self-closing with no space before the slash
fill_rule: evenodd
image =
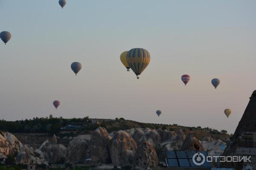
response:
<path id="1" fill-rule="evenodd" d="M 196 139 L 192 134 L 186 136 L 186 139 L 180 148 L 180 150 L 201 150 L 204 151 L 204 147 L 201 145 L 198 139 Z"/>

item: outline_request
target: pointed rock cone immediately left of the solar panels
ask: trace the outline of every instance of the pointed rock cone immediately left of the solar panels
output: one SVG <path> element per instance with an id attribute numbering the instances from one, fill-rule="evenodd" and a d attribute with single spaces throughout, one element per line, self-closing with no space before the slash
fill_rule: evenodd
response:
<path id="1" fill-rule="evenodd" d="M 156 170 L 158 163 L 159 160 L 153 144 L 143 137 L 137 148 L 132 169 L 147 170 L 150 168 L 151 170 Z"/>

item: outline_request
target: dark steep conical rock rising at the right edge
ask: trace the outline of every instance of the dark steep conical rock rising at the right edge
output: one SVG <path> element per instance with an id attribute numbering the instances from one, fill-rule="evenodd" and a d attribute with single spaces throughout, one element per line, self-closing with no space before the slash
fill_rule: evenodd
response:
<path id="1" fill-rule="evenodd" d="M 251 156 L 251 162 L 236 163 L 236 162 L 223 162 L 220 167 L 235 168 L 236 170 L 246 169 L 246 166 L 251 166 L 253 170 L 256 169 L 256 155 L 255 155 L 255 142 L 256 142 L 256 91 L 250 96 L 250 101 L 244 111 L 236 131 L 228 144 L 224 156 Z M 249 139 L 248 139 L 248 136 Z M 249 168 L 248 168 L 249 169 Z"/>

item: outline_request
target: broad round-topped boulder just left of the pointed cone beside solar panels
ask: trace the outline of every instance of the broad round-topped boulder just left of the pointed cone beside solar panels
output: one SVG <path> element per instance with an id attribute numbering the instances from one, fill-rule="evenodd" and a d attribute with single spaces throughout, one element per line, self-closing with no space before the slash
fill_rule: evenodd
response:
<path id="1" fill-rule="evenodd" d="M 119 130 L 109 142 L 109 151 L 114 165 L 130 165 L 134 161 L 137 144 L 125 131 Z"/>

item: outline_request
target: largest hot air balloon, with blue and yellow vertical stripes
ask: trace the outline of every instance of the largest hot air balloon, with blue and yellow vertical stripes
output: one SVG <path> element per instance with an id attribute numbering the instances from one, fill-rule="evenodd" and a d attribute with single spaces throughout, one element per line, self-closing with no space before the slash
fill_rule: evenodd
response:
<path id="1" fill-rule="evenodd" d="M 133 48 L 126 56 L 129 67 L 139 79 L 139 75 L 145 70 L 150 62 L 150 54 L 143 48 Z"/>

